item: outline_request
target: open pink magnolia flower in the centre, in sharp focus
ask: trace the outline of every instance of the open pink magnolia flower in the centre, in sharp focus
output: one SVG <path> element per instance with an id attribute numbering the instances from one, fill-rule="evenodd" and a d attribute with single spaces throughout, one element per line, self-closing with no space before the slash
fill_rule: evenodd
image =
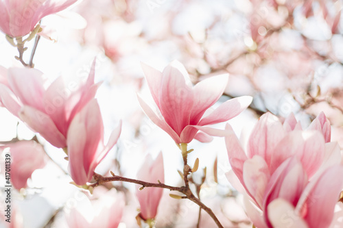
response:
<path id="1" fill-rule="evenodd" d="M 192 87 L 187 84 L 189 75 L 179 62 L 171 62 L 163 73 L 145 64 L 142 67 L 160 112 L 153 112 L 138 96 L 139 103 L 145 114 L 178 144 L 189 143 L 193 138 L 210 142 L 212 137 L 209 134 L 215 134 L 215 129 L 203 126 L 228 121 L 245 110 L 252 101 L 252 97 L 248 96 L 230 99 L 204 116 L 222 96 L 228 75 L 210 77 Z"/>

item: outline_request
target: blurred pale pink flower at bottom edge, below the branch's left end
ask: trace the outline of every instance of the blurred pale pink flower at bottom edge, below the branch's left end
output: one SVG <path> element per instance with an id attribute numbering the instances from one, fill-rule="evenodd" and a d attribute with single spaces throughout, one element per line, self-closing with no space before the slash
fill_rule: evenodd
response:
<path id="1" fill-rule="evenodd" d="M 94 193 L 99 188 L 94 190 Z M 99 199 L 80 203 L 66 215 L 68 227 L 71 228 L 117 228 L 125 207 L 124 196 L 115 189 L 102 192 Z"/>

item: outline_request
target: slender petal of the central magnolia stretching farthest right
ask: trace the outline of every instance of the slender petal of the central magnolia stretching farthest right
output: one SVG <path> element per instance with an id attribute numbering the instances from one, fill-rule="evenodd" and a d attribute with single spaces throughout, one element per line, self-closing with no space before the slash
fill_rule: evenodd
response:
<path id="1" fill-rule="evenodd" d="M 234 99 L 225 101 L 211 114 L 202 118 L 198 125 L 212 125 L 215 123 L 228 121 L 230 118 L 233 118 L 246 110 L 251 101 L 252 97 L 250 96 L 236 97 Z"/>

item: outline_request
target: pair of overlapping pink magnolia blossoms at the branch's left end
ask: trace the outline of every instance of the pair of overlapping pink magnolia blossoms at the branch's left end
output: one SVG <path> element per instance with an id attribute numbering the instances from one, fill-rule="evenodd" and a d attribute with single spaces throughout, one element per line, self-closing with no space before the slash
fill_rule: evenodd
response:
<path id="1" fill-rule="evenodd" d="M 36 69 L 10 68 L 1 75 L 1 103 L 48 142 L 63 148 L 68 155 L 69 171 L 76 184 L 91 181 L 95 167 L 115 145 L 121 124 L 104 147 L 104 125 L 94 98 L 95 62 L 83 84 L 67 84 L 58 77 L 51 85 Z M 25 76 L 26 80 L 23 80 Z"/>

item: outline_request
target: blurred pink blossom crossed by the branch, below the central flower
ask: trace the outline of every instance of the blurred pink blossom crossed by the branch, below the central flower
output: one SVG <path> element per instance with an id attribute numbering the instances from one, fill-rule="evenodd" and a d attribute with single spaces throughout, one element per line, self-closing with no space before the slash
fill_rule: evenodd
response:
<path id="1" fill-rule="evenodd" d="M 137 179 L 151 183 L 162 183 L 165 181 L 165 171 L 163 166 L 163 155 L 160 152 L 156 160 L 152 160 L 151 155 L 147 155 L 143 166 L 137 174 Z M 155 218 L 158 204 L 161 201 L 163 188 L 143 188 L 139 190 L 137 186 L 137 198 L 141 205 L 140 216 L 143 220 Z"/>

